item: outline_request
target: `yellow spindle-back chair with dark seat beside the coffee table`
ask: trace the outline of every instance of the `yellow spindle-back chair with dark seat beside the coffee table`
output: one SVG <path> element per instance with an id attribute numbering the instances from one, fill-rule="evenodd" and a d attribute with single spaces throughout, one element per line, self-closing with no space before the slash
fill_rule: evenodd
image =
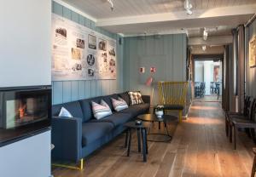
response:
<path id="1" fill-rule="evenodd" d="M 159 101 L 164 110 L 178 111 L 179 122 L 182 122 L 183 109 L 186 107 L 189 82 L 159 82 Z"/>

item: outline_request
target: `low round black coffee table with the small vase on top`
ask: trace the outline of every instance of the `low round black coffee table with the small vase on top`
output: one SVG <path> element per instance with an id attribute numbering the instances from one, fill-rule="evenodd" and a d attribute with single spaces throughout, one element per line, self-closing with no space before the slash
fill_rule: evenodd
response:
<path id="1" fill-rule="evenodd" d="M 149 141 L 166 142 L 166 141 L 172 140 L 172 136 L 168 132 L 168 127 L 167 127 L 166 123 L 177 122 L 177 117 L 172 116 L 172 115 L 164 115 L 159 118 L 159 117 L 156 117 L 154 114 L 143 114 L 143 115 L 139 115 L 137 118 L 144 122 L 150 123 L 150 127 L 148 128 L 148 140 Z M 159 123 L 159 124 L 164 123 L 164 128 L 166 129 L 166 134 L 165 133 L 156 133 L 156 134 L 150 133 L 150 129 L 151 129 L 153 123 Z"/>

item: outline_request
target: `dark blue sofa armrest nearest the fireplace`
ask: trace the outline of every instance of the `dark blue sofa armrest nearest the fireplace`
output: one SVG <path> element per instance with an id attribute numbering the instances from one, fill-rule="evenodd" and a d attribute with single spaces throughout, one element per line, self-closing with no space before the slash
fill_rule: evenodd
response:
<path id="1" fill-rule="evenodd" d="M 52 157 L 78 162 L 82 157 L 82 119 L 52 117 Z"/>

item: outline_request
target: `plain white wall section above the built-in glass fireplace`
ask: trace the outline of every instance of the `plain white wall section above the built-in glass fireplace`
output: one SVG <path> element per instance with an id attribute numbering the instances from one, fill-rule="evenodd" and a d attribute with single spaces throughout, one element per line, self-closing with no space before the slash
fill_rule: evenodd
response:
<path id="1" fill-rule="evenodd" d="M 51 81 L 51 0 L 0 0 L 0 87 Z"/>

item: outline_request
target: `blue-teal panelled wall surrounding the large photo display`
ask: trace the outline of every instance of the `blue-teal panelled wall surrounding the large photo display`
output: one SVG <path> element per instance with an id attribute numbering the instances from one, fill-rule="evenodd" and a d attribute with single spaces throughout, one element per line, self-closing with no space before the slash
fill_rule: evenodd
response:
<path id="1" fill-rule="evenodd" d="M 55 105 L 73 100 L 81 100 L 122 92 L 124 45 L 119 45 L 119 38 L 121 38 L 121 40 L 123 40 L 123 38 L 117 34 L 113 34 L 102 28 L 96 27 L 94 21 L 91 21 L 84 16 L 67 9 L 59 3 L 55 3 L 54 1 L 52 2 L 52 12 L 117 40 L 117 79 L 52 82 L 53 104 Z"/>

